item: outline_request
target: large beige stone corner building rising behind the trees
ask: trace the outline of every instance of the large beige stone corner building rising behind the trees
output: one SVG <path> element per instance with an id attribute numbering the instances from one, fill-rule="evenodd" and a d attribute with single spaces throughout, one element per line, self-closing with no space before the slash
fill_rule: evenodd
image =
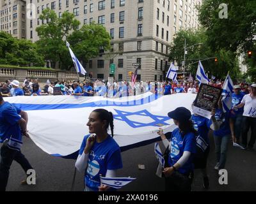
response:
<path id="1" fill-rule="evenodd" d="M 12 1 L 12 0 L 10 0 Z M 29 2 L 28 2 L 29 1 Z M 138 80 L 163 80 L 168 69 L 168 45 L 175 32 L 198 28 L 195 6 L 202 0 L 27 0 L 35 4 L 33 18 L 27 18 L 26 37 L 38 40 L 36 27 L 47 22 L 39 19 L 42 10 L 74 13 L 83 24 L 95 21 L 111 35 L 114 59 L 100 54 L 86 64 L 93 78 L 108 78 L 109 64 L 115 64 L 115 78 L 129 80 L 133 63 L 141 64 Z"/>

